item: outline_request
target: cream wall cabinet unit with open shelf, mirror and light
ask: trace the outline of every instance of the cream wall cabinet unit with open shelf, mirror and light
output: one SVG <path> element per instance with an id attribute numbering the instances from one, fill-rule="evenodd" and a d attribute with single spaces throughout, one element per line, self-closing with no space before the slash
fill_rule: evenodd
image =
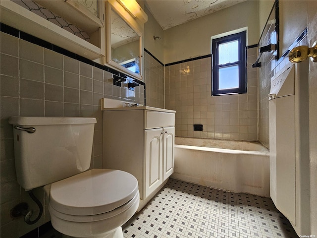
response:
<path id="1" fill-rule="evenodd" d="M 131 9 L 128 10 L 124 0 L 34 2 L 44 4 L 41 8 L 47 9 L 46 12 L 49 13 L 53 11 L 55 17 L 65 17 L 64 20 L 72 22 L 69 30 L 51 22 L 51 18 L 45 14 L 42 16 L 31 12 L 30 7 L 24 6 L 23 2 L 17 4 L 19 1 L 0 1 L 1 23 L 142 80 L 142 34 L 147 15 L 135 0 L 127 0 L 128 3 L 135 2 L 134 10 L 137 11 L 134 13 Z M 73 28 L 70 27 L 73 24 L 83 28 L 83 32 L 90 36 L 87 37 L 89 40 L 74 34 Z"/>

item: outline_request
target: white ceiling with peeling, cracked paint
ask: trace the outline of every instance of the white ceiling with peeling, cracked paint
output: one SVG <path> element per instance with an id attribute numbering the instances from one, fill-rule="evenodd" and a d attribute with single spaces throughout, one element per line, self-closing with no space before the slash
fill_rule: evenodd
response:
<path id="1" fill-rule="evenodd" d="M 245 0 L 146 0 L 163 30 L 210 14 Z"/>

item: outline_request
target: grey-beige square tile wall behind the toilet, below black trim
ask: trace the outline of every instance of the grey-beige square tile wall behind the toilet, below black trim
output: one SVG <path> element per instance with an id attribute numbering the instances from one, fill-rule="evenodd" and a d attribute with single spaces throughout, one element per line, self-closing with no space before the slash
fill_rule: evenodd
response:
<path id="1" fill-rule="evenodd" d="M 102 168 L 103 114 L 101 98 L 116 98 L 144 104 L 144 86 L 131 89 L 113 85 L 112 73 L 71 59 L 46 48 L 0 33 L 0 115 L 1 115 L 1 234 L 18 238 L 48 222 L 47 206 L 41 220 L 27 225 L 23 218 L 10 217 L 10 209 L 29 199 L 16 180 L 11 116 L 95 117 L 91 168 Z M 128 92 L 128 97 L 124 93 Z M 44 192 L 37 190 L 45 204 Z M 36 210 L 34 202 L 28 201 Z"/>

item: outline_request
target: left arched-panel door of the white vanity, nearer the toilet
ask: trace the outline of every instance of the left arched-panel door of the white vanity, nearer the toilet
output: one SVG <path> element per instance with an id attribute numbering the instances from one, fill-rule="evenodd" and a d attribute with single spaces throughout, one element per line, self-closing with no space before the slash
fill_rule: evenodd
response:
<path id="1" fill-rule="evenodd" d="M 163 130 L 145 130 L 145 197 L 162 183 Z"/>

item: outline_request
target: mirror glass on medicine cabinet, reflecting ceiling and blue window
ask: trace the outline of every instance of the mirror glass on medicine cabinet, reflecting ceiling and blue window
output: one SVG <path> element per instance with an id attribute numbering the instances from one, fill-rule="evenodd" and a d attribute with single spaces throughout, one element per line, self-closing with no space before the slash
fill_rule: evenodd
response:
<path id="1" fill-rule="evenodd" d="M 107 63 L 141 80 L 141 32 L 129 25 L 110 4 L 107 4 L 106 30 Z"/>

